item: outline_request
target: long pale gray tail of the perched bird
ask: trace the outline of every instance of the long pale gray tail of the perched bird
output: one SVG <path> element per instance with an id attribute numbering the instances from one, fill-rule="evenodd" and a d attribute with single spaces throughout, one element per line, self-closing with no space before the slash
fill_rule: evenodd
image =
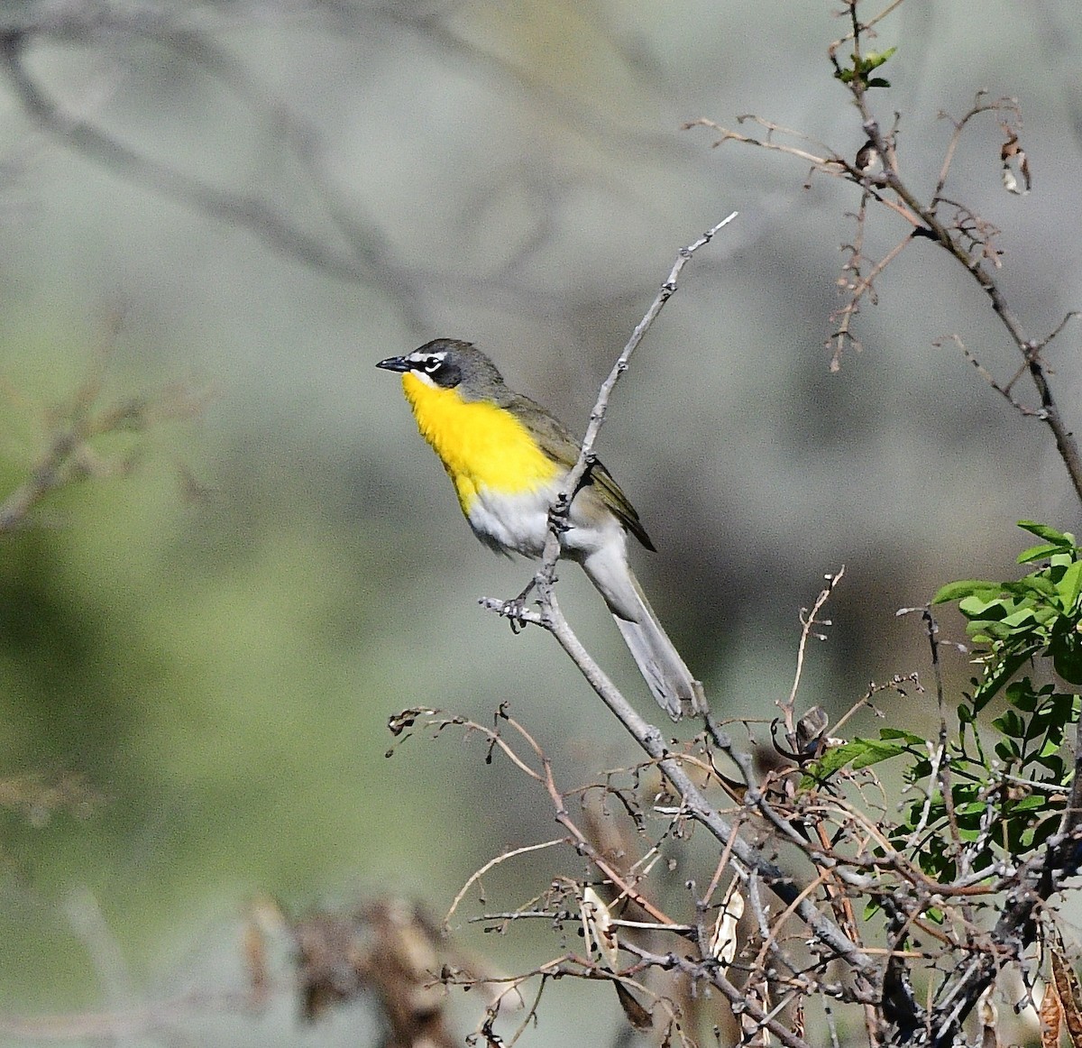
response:
<path id="1" fill-rule="evenodd" d="M 705 713 L 702 684 L 687 668 L 664 631 L 628 562 L 612 558 L 588 558 L 583 568 L 601 591 L 624 643 L 638 665 L 658 705 L 675 721 L 691 713 Z"/>

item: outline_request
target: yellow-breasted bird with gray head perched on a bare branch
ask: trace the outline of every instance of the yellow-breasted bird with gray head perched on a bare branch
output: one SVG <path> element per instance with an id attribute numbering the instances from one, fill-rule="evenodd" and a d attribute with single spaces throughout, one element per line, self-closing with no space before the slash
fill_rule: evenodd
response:
<path id="1" fill-rule="evenodd" d="M 538 559 L 549 511 L 582 445 L 540 404 L 514 392 L 472 342 L 433 339 L 377 367 L 401 374 L 421 435 L 454 485 L 474 534 L 501 553 Z M 568 509 L 560 552 L 608 605 L 658 705 L 674 720 L 705 713 L 695 679 L 650 607 L 628 560 L 628 536 L 654 550 L 634 507 L 598 461 Z"/>

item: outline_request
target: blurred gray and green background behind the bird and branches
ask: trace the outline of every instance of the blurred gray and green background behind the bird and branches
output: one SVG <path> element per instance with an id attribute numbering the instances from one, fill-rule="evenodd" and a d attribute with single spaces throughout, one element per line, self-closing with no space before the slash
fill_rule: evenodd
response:
<path id="1" fill-rule="evenodd" d="M 0 777 L 91 792 L 74 812 L 0 814 L 0 1012 L 118 1005 L 88 913 L 127 969 L 119 1004 L 240 990 L 259 892 L 302 912 L 395 891 L 439 915 L 488 857 L 556 836 L 545 798 L 459 736 L 385 759 L 400 708 L 487 719 L 509 700 L 567 785 L 635 759 L 554 643 L 477 607 L 529 568 L 472 538 L 381 357 L 471 339 L 581 429 L 677 248 L 741 212 L 685 271 L 599 446 L 659 549 L 637 571 L 720 716 L 773 716 L 824 573 L 845 564 L 803 697 L 841 712 L 870 680 L 926 669 L 896 608 L 1008 573 L 1019 518 L 1077 526 L 1040 425 L 932 344 L 956 331 L 1014 372 L 972 281 L 918 244 L 858 319 L 865 351 L 830 374 L 855 192 L 802 188 L 796 161 L 679 130 L 754 113 L 854 155 L 826 58 L 833 6 L 4 4 L 38 86 L 115 146 L 74 149 L 0 80 L 4 492 L 88 375 L 106 404 L 210 394 L 197 418 L 103 447 L 138 448 L 130 475 L 64 490 L 3 539 Z M 1034 192 L 1004 193 L 992 118 L 952 186 L 1004 231 L 1004 288 L 1043 335 L 1079 304 L 1076 5 L 913 2 L 880 31 L 899 51 L 876 103 L 885 122 L 903 114 L 925 191 L 950 133 L 938 110 L 961 115 L 979 88 L 1019 99 Z M 265 215 L 237 221 L 252 200 L 275 235 Z M 901 234 L 878 218 L 868 252 Z M 1068 329 L 1053 351 L 1069 421 L 1076 348 Z M 562 587 L 652 716 L 602 602 L 570 569 Z M 546 862 L 510 864 L 489 900 L 525 901 Z M 558 949 L 463 935 L 509 968 Z M 576 1004 L 543 1008 L 530 1043 L 611 1037 L 609 993 L 559 993 Z M 198 1040 L 196 1022 L 179 1026 Z M 288 998 L 215 1022 L 217 1043 L 356 1039 L 338 1019 L 302 1029 Z"/>

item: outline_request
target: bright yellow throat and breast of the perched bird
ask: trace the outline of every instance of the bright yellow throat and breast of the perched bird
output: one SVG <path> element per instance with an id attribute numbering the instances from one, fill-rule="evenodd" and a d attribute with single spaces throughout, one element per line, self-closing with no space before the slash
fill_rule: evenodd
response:
<path id="1" fill-rule="evenodd" d="M 409 372 L 403 376 L 403 391 L 421 435 L 454 482 L 467 516 L 483 488 L 517 494 L 536 490 L 557 475 L 556 463 L 510 411 L 483 401 L 463 401 L 454 390 L 428 385 Z"/>

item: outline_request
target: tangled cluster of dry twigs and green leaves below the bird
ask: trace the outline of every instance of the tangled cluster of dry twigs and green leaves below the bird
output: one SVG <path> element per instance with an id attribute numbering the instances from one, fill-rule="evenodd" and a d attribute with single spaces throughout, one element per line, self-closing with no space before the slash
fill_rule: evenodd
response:
<path id="1" fill-rule="evenodd" d="M 1082 574 L 1070 565 L 1082 569 L 1082 553 L 1069 537 L 1055 543 L 1050 563 L 1029 578 L 1058 582 L 1069 573 L 1059 613 L 1073 630 Z M 805 618 L 802 660 L 808 637 L 829 625 L 818 614 L 835 584 L 828 580 Z M 960 585 L 971 632 L 987 643 L 988 624 L 1018 611 L 1004 595 L 1010 584 Z M 1053 900 L 1080 859 L 1078 805 L 1065 786 L 1073 769 L 1059 756 L 1079 696 L 1016 677 L 1027 641 L 1012 630 L 982 650 L 973 693 L 949 711 L 937 626 L 928 608 L 920 611 L 940 715 L 932 741 L 896 728 L 878 739 L 840 738 L 827 733 L 818 709 L 796 719 L 800 671 L 778 704 L 768 746 L 756 745 L 752 722 L 739 722 L 748 741 L 737 746 L 708 717 L 703 731 L 667 744 L 662 757 L 570 788 L 505 706 L 491 725 L 435 709 L 393 718 L 400 739 L 448 730 L 480 739 L 487 760 L 511 761 L 543 791 L 562 828 L 486 863 L 445 923 L 497 865 L 565 849 L 580 867 L 518 906 L 473 918 L 499 933 L 544 921 L 560 943 L 529 971 L 484 980 L 503 990 L 476 1036 L 514 1044 L 546 987 L 564 977 L 611 982 L 633 1026 L 687 1046 L 710 1027 L 722 1043 L 776 1038 L 804 1048 L 815 1043 L 805 1037 L 813 1017 L 835 1045 L 856 1043 L 863 1030 L 859 1039 L 872 1046 L 948 1046 L 966 1043 L 971 1014 L 973 1039 L 994 1045 L 998 999 L 1031 1017 L 1043 1007 L 1046 1021 L 1054 1003 L 1077 1010 L 1080 995 L 1056 975 L 1069 964 Z M 1056 657 L 1048 643 L 1040 654 Z M 850 713 L 875 709 L 883 693 L 909 691 L 923 692 L 915 674 L 872 685 Z M 992 760 L 975 724 L 1001 692 L 1013 711 L 994 722 Z M 665 764 L 679 769 L 685 785 Z M 1051 985 L 1041 991 L 1043 975 Z M 480 982 L 453 968 L 441 978 Z M 514 1032 L 498 1032 L 512 1013 Z"/>

